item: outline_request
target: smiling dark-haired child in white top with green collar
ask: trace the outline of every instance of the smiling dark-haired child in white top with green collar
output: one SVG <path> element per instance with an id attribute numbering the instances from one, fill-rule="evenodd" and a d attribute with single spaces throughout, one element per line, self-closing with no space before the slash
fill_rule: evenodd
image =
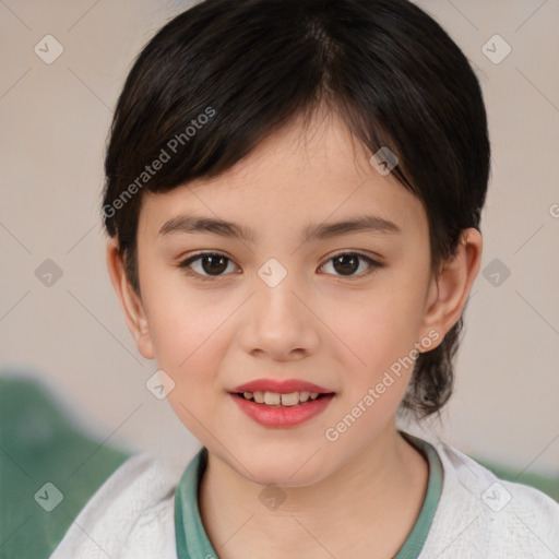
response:
<path id="1" fill-rule="evenodd" d="M 451 394 L 489 156 L 466 58 L 405 0 L 165 25 L 114 117 L 107 264 L 202 449 L 127 461 L 51 557 L 557 557 L 558 503 L 396 427 Z"/>

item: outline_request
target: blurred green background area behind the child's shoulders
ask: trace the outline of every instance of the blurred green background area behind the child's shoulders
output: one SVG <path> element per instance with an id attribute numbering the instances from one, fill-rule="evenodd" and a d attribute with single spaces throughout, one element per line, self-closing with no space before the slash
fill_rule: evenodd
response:
<path id="1" fill-rule="evenodd" d="M 95 490 L 130 452 L 84 435 L 40 384 L 0 371 L 0 559 L 47 559 Z M 475 457 L 475 456 L 474 456 Z M 502 479 L 531 485 L 559 501 L 549 478 L 489 464 Z M 50 483 L 63 495 L 45 492 Z"/>

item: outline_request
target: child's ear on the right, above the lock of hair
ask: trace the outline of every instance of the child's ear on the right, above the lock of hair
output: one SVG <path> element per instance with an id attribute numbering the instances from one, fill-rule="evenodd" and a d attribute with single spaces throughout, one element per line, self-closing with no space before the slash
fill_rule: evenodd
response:
<path id="1" fill-rule="evenodd" d="M 466 306 L 472 284 L 479 272 L 481 249 L 481 234 L 474 227 L 464 229 L 455 254 L 443 262 L 442 269 L 431 278 L 421 330 L 423 335 L 429 331 L 438 332 L 437 345 L 457 322 Z"/>

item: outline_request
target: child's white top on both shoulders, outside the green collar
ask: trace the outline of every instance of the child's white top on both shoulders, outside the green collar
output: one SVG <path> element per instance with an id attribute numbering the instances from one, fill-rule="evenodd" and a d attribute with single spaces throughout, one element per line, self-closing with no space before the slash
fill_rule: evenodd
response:
<path id="1" fill-rule="evenodd" d="M 436 440 L 442 492 L 418 559 L 558 559 L 559 503 L 503 481 Z M 50 559 L 177 559 L 175 489 L 183 467 L 127 460 L 80 512 Z M 204 559 L 204 558 L 200 558 Z"/>

